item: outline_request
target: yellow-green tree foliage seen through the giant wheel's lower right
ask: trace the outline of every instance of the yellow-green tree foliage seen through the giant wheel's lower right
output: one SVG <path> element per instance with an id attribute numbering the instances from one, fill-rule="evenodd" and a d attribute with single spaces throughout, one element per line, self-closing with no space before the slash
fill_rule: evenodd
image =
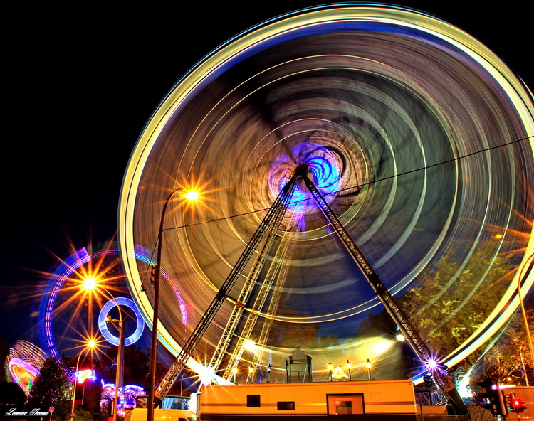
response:
<path id="1" fill-rule="evenodd" d="M 454 351 L 481 326 L 512 279 L 510 255 L 476 251 L 464 265 L 465 255 L 456 250 L 444 255 L 399 299 L 419 334 L 441 355 Z"/>

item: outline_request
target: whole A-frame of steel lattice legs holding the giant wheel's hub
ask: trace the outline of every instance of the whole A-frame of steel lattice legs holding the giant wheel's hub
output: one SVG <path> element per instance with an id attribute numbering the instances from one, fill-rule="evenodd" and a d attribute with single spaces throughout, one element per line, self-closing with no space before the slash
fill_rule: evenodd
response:
<path id="1" fill-rule="evenodd" d="M 399 326 L 399 329 L 401 329 L 402 333 L 406 337 L 410 346 L 412 346 L 419 359 L 423 362 L 431 361 L 431 350 L 428 346 L 426 346 L 426 343 L 424 343 L 423 339 L 421 336 L 419 336 L 412 323 L 409 321 L 402 309 L 400 309 L 400 307 L 397 305 L 392 295 L 389 294 L 387 288 L 382 283 L 382 280 L 362 255 L 362 252 L 360 252 L 354 240 L 352 240 L 343 225 L 340 223 L 340 220 L 337 219 L 335 213 L 333 213 L 333 210 L 325 201 L 325 198 L 323 198 L 320 191 L 318 191 L 318 188 L 314 185 L 310 178 L 308 178 L 308 167 L 298 166 L 293 177 L 288 183 L 286 183 L 286 186 L 283 187 L 281 193 L 278 195 L 278 198 L 276 198 L 276 201 L 273 203 L 273 206 L 271 206 L 271 208 L 268 210 L 266 217 L 262 220 L 258 230 L 256 230 L 256 233 L 254 233 L 251 241 L 241 254 L 241 257 L 239 257 L 239 260 L 231 270 L 229 277 L 216 294 L 216 297 L 214 298 L 213 302 L 211 302 L 208 310 L 202 317 L 197 327 L 194 329 L 184 348 L 182 348 L 182 352 L 179 353 L 179 356 L 167 372 L 167 375 L 164 376 L 162 382 L 158 385 L 155 392 L 156 398 L 162 399 L 165 395 L 167 395 L 168 391 L 179 377 L 179 373 L 182 371 L 184 364 L 187 362 L 189 357 L 192 356 L 194 349 L 204 335 L 209 324 L 211 324 L 211 321 L 213 321 L 216 312 L 219 311 L 224 300 L 226 299 L 226 296 L 229 294 L 232 287 L 234 287 L 236 280 L 241 275 L 241 272 L 244 270 L 247 262 L 251 259 L 253 253 L 259 248 L 260 250 L 258 251 L 258 256 L 256 257 L 251 272 L 246 279 L 244 287 L 241 289 L 239 299 L 237 300 L 236 305 L 231 313 L 231 317 L 226 324 L 226 329 L 224 329 L 214 356 L 211 358 L 210 367 L 215 370 L 223 361 L 224 355 L 229 349 L 231 341 L 234 338 L 234 334 L 236 333 L 239 321 L 241 320 L 244 306 L 246 306 L 248 299 L 251 297 L 253 286 L 256 283 L 261 267 L 266 260 L 268 250 L 270 250 L 272 247 L 273 240 L 276 237 L 276 233 L 278 232 L 283 217 L 286 214 L 288 203 L 293 195 L 293 189 L 296 181 L 303 181 L 303 183 L 305 183 L 305 186 L 312 194 L 315 202 L 325 215 L 325 218 L 328 219 L 330 225 L 337 233 L 343 245 L 345 245 L 345 248 L 355 260 L 361 272 L 363 275 L 365 275 L 367 281 L 374 289 L 377 297 L 379 297 L 382 304 L 384 304 L 389 316 L 391 316 L 395 323 Z M 294 227 L 295 225 L 298 226 L 298 218 L 302 218 L 302 216 L 294 217 L 290 227 Z M 288 230 L 288 232 L 290 232 L 290 230 Z M 266 302 L 268 291 L 271 289 L 275 279 L 277 279 L 276 286 L 273 289 L 268 315 L 272 315 L 274 311 L 276 311 L 276 307 L 278 307 L 278 300 L 280 298 L 281 289 L 287 273 L 286 265 L 283 265 L 281 262 L 284 260 L 287 262 L 288 259 L 284 257 L 287 257 L 287 253 L 292 251 L 292 242 L 290 241 L 290 236 L 288 235 L 286 237 L 283 238 L 276 252 L 276 258 L 274 262 L 279 263 L 272 265 L 272 267 L 269 269 L 268 275 L 262 282 L 260 291 L 258 292 L 258 297 L 256 297 L 252 311 L 249 313 L 244 325 L 244 329 L 241 331 L 241 335 L 239 336 L 236 350 L 231 354 L 230 361 L 226 366 L 224 378 L 228 379 L 231 377 L 231 369 L 234 368 L 241 359 L 244 342 L 248 339 L 253 327 L 256 324 L 256 320 L 258 318 L 257 312 L 261 311 L 263 304 Z M 278 277 L 276 276 L 277 274 Z M 260 339 L 258 341 L 260 344 L 266 341 L 270 328 L 271 323 L 267 321 L 266 324 L 263 325 Z M 261 355 L 255 356 L 253 367 L 258 366 L 260 361 Z M 446 368 L 444 368 L 444 366 L 437 366 L 433 370 L 433 375 L 436 384 L 447 396 L 449 396 L 451 403 L 453 403 L 453 405 L 455 405 L 456 408 L 461 412 L 466 412 L 466 407 L 459 397 L 454 383 L 447 375 Z M 250 383 L 252 380 L 253 373 L 250 373 L 247 378 L 247 383 Z"/>

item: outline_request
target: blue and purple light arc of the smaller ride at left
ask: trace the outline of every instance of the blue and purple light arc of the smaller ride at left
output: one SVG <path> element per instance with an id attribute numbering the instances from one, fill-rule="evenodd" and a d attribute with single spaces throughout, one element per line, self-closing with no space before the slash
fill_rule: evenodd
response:
<path id="1" fill-rule="evenodd" d="M 60 265 L 53 272 L 53 275 L 48 279 L 46 287 L 43 292 L 43 298 L 39 304 L 39 339 L 41 343 L 44 343 L 46 350 L 54 358 L 60 358 L 58 350 L 56 348 L 56 343 L 53 339 L 53 329 L 52 329 L 52 319 L 53 319 L 53 309 L 56 305 L 56 299 L 58 293 L 61 291 L 65 281 L 73 274 L 79 267 L 90 262 L 95 257 L 102 255 L 120 255 L 119 250 L 103 250 L 99 252 L 94 252 L 89 254 L 85 247 L 81 248 L 77 252 L 70 255 L 64 262 L 61 262 Z M 130 255 L 130 253 L 129 253 Z M 147 263 L 147 265 L 155 264 L 152 261 L 151 257 L 153 255 L 151 250 L 148 250 L 146 247 L 141 247 L 139 245 L 135 246 L 134 252 L 131 255 L 136 259 L 142 262 Z M 174 294 L 177 297 L 179 302 L 180 314 L 182 316 L 182 324 L 187 326 L 189 324 L 188 315 L 187 315 L 187 304 L 185 303 L 182 294 L 179 292 L 176 284 L 172 281 L 172 278 L 167 272 L 162 270 L 162 277 L 169 282 L 169 285 L 172 287 Z M 147 323 L 148 319 L 147 319 Z"/>

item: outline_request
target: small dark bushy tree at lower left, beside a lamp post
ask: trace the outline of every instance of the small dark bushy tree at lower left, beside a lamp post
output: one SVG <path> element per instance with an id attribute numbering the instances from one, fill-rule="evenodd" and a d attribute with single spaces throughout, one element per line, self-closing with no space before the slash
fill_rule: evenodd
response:
<path id="1" fill-rule="evenodd" d="M 65 368 L 56 358 L 48 357 L 30 390 L 33 405 L 53 406 L 56 417 L 64 419 L 70 413 L 70 381 Z"/>

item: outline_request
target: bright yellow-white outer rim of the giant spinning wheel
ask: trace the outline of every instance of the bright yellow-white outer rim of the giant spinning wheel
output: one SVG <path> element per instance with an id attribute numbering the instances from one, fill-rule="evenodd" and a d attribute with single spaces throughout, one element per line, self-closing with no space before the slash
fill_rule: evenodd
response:
<path id="1" fill-rule="evenodd" d="M 125 253 L 126 250 L 131 250 L 135 243 L 133 230 L 133 227 L 135 226 L 135 201 L 140 193 L 138 189 L 140 188 L 140 181 L 142 180 L 142 172 L 145 171 L 145 166 L 149 164 L 149 155 L 155 152 L 155 146 L 159 139 L 165 137 L 165 129 L 167 125 L 169 125 L 173 113 L 179 112 L 179 109 L 183 106 L 184 102 L 189 100 L 189 93 L 197 89 L 197 87 L 200 87 L 202 84 L 207 84 L 208 82 L 215 80 L 219 75 L 224 73 L 226 68 L 231 67 L 230 63 L 232 60 L 234 60 L 234 62 L 239 62 L 240 60 L 244 60 L 248 55 L 252 55 L 254 48 L 267 48 L 266 46 L 269 43 L 276 43 L 276 37 L 284 38 L 285 40 L 293 39 L 293 37 L 296 38 L 299 36 L 298 31 L 302 31 L 304 35 L 300 36 L 304 37 L 306 36 L 306 33 L 318 33 L 322 31 L 322 28 L 320 28 L 321 25 L 324 25 L 327 28 L 325 31 L 337 31 L 338 29 L 335 27 L 336 24 L 339 24 L 340 26 L 350 26 L 352 23 L 364 31 L 373 31 L 374 28 L 379 26 L 382 28 L 387 26 L 392 33 L 402 33 L 403 35 L 408 34 L 408 36 L 412 36 L 419 41 L 424 40 L 436 45 L 444 43 L 451 46 L 451 51 L 456 49 L 455 53 L 451 53 L 456 56 L 455 58 L 459 58 L 459 60 L 464 61 L 465 63 L 469 62 L 470 64 L 473 63 L 473 65 L 478 66 L 478 71 L 480 71 L 487 80 L 491 81 L 491 84 L 498 87 L 498 90 L 503 97 L 506 97 L 506 101 L 508 101 L 511 108 L 513 108 L 514 114 L 511 114 L 511 118 L 516 117 L 518 119 L 521 129 L 524 130 L 526 137 L 530 137 L 534 134 L 534 107 L 528 90 L 525 90 L 525 87 L 518 78 L 516 78 L 511 70 L 506 68 L 506 65 L 496 58 L 491 51 L 459 28 L 454 28 L 429 15 L 414 13 L 413 11 L 409 11 L 409 9 L 379 8 L 372 5 L 362 6 L 360 8 L 352 6 L 340 7 L 338 9 L 318 7 L 309 9 L 301 15 L 288 14 L 281 16 L 280 18 L 273 19 L 265 24 L 251 28 L 250 31 L 241 33 L 236 38 L 232 38 L 229 43 L 226 43 L 215 50 L 211 55 L 206 56 L 201 63 L 194 69 L 190 70 L 189 73 L 179 81 L 174 87 L 174 90 L 169 93 L 169 96 L 162 102 L 161 107 L 155 112 L 150 122 L 148 122 L 145 132 L 141 135 L 136 149 L 132 154 L 130 166 L 127 169 L 125 183 L 122 188 L 119 223 L 120 243 L 122 245 L 123 253 Z M 264 43 L 263 46 L 262 43 Z M 199 90 L 200 89 L 201 88 L 199 88 Z M 428 92 L 418 93 L 426 95 Z M 487 141 L 488 139 L 483 139 L 483 142 Z M 523 145 L 524 149 L 522 151 L 526 163 L 525 166 L 530 166 L 526 169 L 526 171 L 528 171 L 529 169 L 531 170 L 534 143 L 532 140 L 527 140 Z M 485 146 L 490 145 L 481 143 L 478 146 L 479 149 L 477 150 L 480 151 Z M 464 152 L 464 154 L 467 155 L 471 151 L 465 150 L 461 152 Z M 459 151 L 454 150 L 454 157 L 458 157 L 458 155 Z M 514 167 L 515 157 L 511 152 L 511 148 L 508 149 L 508 157 L 510 158 L 512 166 L 510 169 L 511 174 L 515 174 L 514 170 L 521 171 L 522 169 Z M 424 156 L 424 159 L 426 163 L 426 156 Z M 491 164 L 491 161 L 488 159 L 488 161 L 483 161 L 479 165 L 484 167 L 484 170 L 487 170 L 488 173 L 491 174 Z M 456 165 L 456 174 L 465 175 L 459 171 L 459 164 Z M 470 164 L 467 163 L 465 165 L 467 168 Z M 464 169 L 464 171 L 466 171 L 466 169 Z M 523 169 L 523 174 L 524 171 L 525 170 Z M 325 171 L 325 173 L 328 172 L 329 171 Z M 468 173 L 468 171 L 466 171 L 466 173 Z M 491 185 L 496 181 L 497 177 L 498 176 L 493 175 L 492 178 L 490 175 L 485 181 Z M 512 175 L 512 177 L 514 177 L 514 175 Z M 526 178 L 528 182 L 528 176 Z M 511 198 L 515 198 L 513 194 L 514 191 L 511 191 Z M 488 194 L 488 196 L 490 195 Z M 482 223 L 489 223 L 488 216 L 491 214 L 489 197 L 481 198 L 482 203 L 484 203 L 484 199 L 486 199 L 486 213 L 483 213 L 482 215 Z M 454 200 L 456 201 L 456 196 L 454 197 Z M 515 211 L 512 208 L 513 203 L 510 203 L 510 205 L 508 216 L 504 218 L 505 223 L 503 224 L 503 228 L 505 230 L 508 229 L 508 221 L 511 219 L 511 215 Z M 447 223 L 450 223 L 450 218 L 452 218 L 452 214 L 449 215 Z M 529 219 L 528 222 L 531 222 L 531 220 Z M 482 225 L 483 224 L 481 224 L 481 228 L 474 233 L 471 252 L 475 250 L 475 247 L 481 244 L 483 235 L 487 234 L 483 232 L 483 229 L 487 230 L 487 227 Z M 461 230 L 461 227 L 454 228 L 455 233 L 458 230 Z M 527 259 L 533 250 L 534 236 L 531 231 L 532 228 L 530 228 L 530 231 L 527 233 L 529 237 L 525 245 L 525 254 L 521 257 L 522 262 L 520 262 L 520 267 L 526 267 L 528 265 Z M 404 241 L 405 239 L 403 238 L 402 240 Z M 431 254 L 436 254 L 439 245 L 446 240 L 446 233 L 444 231 L 441 233 L 441 236 L 436 238 L 436 242 L 431 248 Z M 501 247 L 502 244 L 503 243 L 501 242 L 499 247 Z M 124 257 L 127 259 L 126 255 L 124 255 Z M 421 266 L 417 267 L 417 271 L 422 270 L 422 266 L 428 264 L 429 261 L 430 258 L 421 262 Z M 134 268 L 135 265 L 128 265 L 128 267 Z M 451 353 L 447 358 L 449 364 L 454 365 L 468 356 L 468 354 L 480 343 L 486 341 L 492 334 L 500 329 L 508 317 L 511 316 L 515 308 L 518 306 L 518 297 L 515 290 L 520 276 L 518 273 L 516 273 L 511 282 L 511 286 L 502 297 L 501 302 L 496 309 L 490 316 L 488 316 L 486 322 L 473 333 L 468 341 Z M 534 282 L 532 274 L 529 273 L 528 275 L 530 276 L 525 275 L 525 277 L 520 279 L 521 288 L 525 294 L 532 287 Z M 130 270 L 127 273 L 127 276 L 133 287 L 139 286 L 140 277 L 135 270 Z M 395 289 L 401 289 L 402 286 L 403 285 L 396 285 Z M 165 334 L 167 335 L 167 332 Z M 170 336 L 167 336 L 167 339 L 168 342 L 172 344 L 172 349 L 170 350 L 177 354 L 181 350 L 179 343 Z"/>

